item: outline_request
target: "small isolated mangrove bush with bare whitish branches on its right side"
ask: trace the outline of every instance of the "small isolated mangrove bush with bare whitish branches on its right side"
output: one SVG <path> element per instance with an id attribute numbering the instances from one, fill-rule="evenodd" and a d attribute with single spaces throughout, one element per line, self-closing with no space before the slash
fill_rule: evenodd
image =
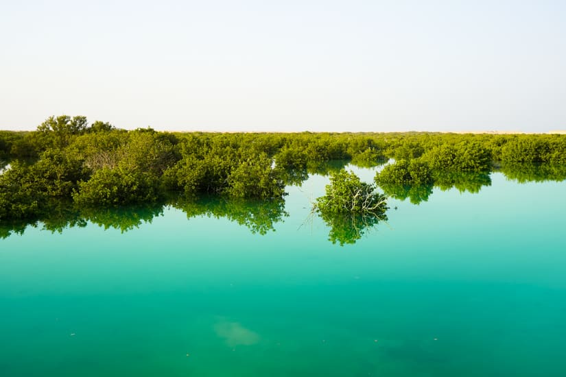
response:
<path id="1" fill-rule="evenodd" d="M 314 208 L 320 213 L 382 214 L 387 210 L 386 196 L 375 185 L 359 180 L 345 169 L 331 173 L 326 195 L 316 199 Z"/>

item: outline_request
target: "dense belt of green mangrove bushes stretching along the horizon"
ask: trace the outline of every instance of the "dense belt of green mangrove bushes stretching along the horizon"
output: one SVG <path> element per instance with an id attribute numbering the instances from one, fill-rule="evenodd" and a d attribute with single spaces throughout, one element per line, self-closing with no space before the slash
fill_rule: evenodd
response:
<path id="1" fill-rule="evenodd" d="M 367 194 L 374 192 L 372 184 L 357 182 L 340 169 L 348 162 L 371 167 L 388 160 L 392 163 L 376 175 L 375 184 L 390 197 L 419 203 L 434 187 L 477 192 L 491 184 L 493 169 L 519 182 L 565 180 L 566 136 L 171 133 L 120 130 L 102 121 L 89 124 L 85 117 L 49 117 L 34 132 L 0 132 L 0 171 L 10 164 L 0 175 L 0 223 L 14 230 L 19 223 L 57 219 L 67 225 L 98 221 L 106 226 L 106 220 L 97 220 L 105 218 L 105 211 L 133 206 L 158 212 L 172 205 L 187 214 L 229 217 L 264 233 L 272 228 L 268 218 L 280 221 L 284 216 L 285 185 L 300 185 L 312 173 L 332 173 L 333 182 L 341 177 L 361 184 Z M 223 204 L 204 208 L 203 197 Z M 331 208 L 327 199 L 317 207 Z M 251 202 L 259 204 L 246 204 Z M 350 208 L 356 216 L 363 212 Z M 329 224 L 352 223 L 344 212 L 319 212 Z M 362 220 L 353 232 L 357 224 L 370 222 Z M 340 229 L 334 234 L 349 232 Z"/>

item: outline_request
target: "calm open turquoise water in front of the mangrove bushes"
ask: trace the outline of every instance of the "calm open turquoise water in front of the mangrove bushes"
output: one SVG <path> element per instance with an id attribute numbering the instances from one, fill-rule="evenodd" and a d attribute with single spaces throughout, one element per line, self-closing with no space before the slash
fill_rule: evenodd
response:
<path id="1" fill-rule="evenodd" d="M 174 208 L 27 228 L 0 240 L 0 375 L 565 376 L 566 182 L 491 180 L 344 246 L 320 176 L 265 235 Z"/>

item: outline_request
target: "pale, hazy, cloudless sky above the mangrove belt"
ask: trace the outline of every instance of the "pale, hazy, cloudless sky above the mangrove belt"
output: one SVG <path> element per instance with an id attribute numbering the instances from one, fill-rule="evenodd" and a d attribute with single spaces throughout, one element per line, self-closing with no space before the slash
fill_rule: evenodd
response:
<path id="1" fill-rule="evenodd" d="M 566 129 L 566 1 L 0 0 L 0 129 Z"/>

